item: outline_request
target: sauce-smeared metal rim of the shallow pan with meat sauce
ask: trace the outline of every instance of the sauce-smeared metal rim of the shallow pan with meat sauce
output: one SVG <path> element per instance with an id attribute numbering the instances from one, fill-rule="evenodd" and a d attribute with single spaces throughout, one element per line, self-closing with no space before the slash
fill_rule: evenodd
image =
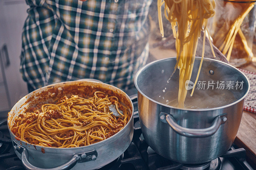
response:
<path id="1" fill-rule="evenodd" d="M 41 88 L 39 88 L 39 89 L 36 89 L 35 91 L 38 91 L 38 90 L 40 90 L 40 89 L 44 89 L 44 88 L 47 88 L 47 87 L 50 87 L 50 86 L 54 86 L 54 85 L 59 85 L 59 84 L 65 84 L 65 83 L 70 83 L 70 82 L 92 82 L 92 83 L 97 83 L 97 84 L 104 84 L 104 85 L 108 85 L 108 86 L 110 86 L 110 87 L 113 87 L 113 88 L 115 88 L 115 89 L 117 89 L 117 90 L 120 90 L 121 92 L 123 92 L 124 94 L 125 94 L 125 96 L 126 97 L 128 97 L 128 99 L 129 99 L 129 101 L 132 103 L 132 100 L 130 99 L 130 97 L 123 91 L 123 90 L 121 90 L 121 89 L 119 89 L 119 88 L 117 88 L 117 87 L 115 87 L 115 86 L 113 86 L 113 85 L 109 85 L 109 84 L 106 84 L 106 83 L 102 83 L 102 82 L 97 82 L 97 81 L 89 81 L 89 80 L 74 80 L 74 81 L 65 81 L 65 82 L 59 82 L 59 83 L 54 83 L 54 84 L 51 84 L 51 85 L 46 85 L 46 86 L 44 86 L 44 87 L 41 87 Z M 33 92 L 35 92 L 35 91 L 33 91 Z M 28 93 L 26 96 L 24 96 L 24 97 L 22 97 L 20 100 L 24 100 L 25 98 L 27 98 L 27 96 L 29 95 L 29 94 L 31 94 L 31 93 L 33 93 L 33 92 L 30 92 L 30 93 Z M 16 104 L 17 103 L 19 103 L 20 102 L 20 100 L 18 101 L 18 102 L 16 102 Z M 16 107 L 16 104 L 12 107 L 12 109 L 14 109 L 14 107 Z M 127 124 L 124 126 L 124 128 L 125 127 L 127 127 L 127 125 L 131 122 L 131 120 L 132 120 L 132 118 L 133 118 L 133 104 L 131 104 L 132 105 L 132 114 L 131 114 L 131 118 L 130 118 L 130 120 L 127 122 Z M 11 109 L 11 110 L 12 110 Z M 12 131 L 11 131 L 11 128 L 10 128 L 10 126 L 9 126 L 9 116 L 8 116 L 8 120 L 7 120 L 7 126 L 8 126 L 8 130 L 9 130 L 9 132 L 15 137 L 15 139 L 16 139 L 16 136 L 12 133 Z M 122 132 L 123 130 L 124 130 L 124 128 L 123 129 L 121 129 L 119 132 Z M 114 136 L 116 136 L 119 132 L 117 132 L 115 135 L 113 135 L 113 136 L 111 136 L 111 137 L 114 137 Z M 103 143 L 104 144 L 104 141 L 107 141 L 107 140 L 111 140 L 111 137 L 109 137 L 109 138 L 107 138 L 107 139 L 105 139 L 105 140 L 102 140 L 102 141 L 100 141 L 100 142 L 97 142 L 97 143 L 94 143 L 94 144 L 90 144 L 90 145 L 86 145 L 86 146 L 79 146 L 79 147 L 75 147 L 75 148 L 86 148 L 86 147 L 88 147 L 88 146 L 94 146 L 94 145 L 99 145 L 99 144 L 101 144 L 101 143 Z M 16 139 L 17 140 L 17 139 Z M 72 149 L 74 149 L 74 147 L 73 148 L 57 148 L 57 147 L 47 147 L 47 146 L 41 146 L 41 145 L 35 145 L 35 144 L 30 144 L 30 143 L 28 143 L 28 142 L 25 142 L 25 141 L 23 141 L 23 140 L 19 140 L 19 141 L 21 141 L 22 143 L 24 143 L 25 145 L 31 145 L 31 146 L 38 146 L 38 147 L 41 147 L 41 148 L 47 148 L 47 150 L 48 149 L 66 149 L 66 150 L 68 150 L 68 149 L 70 149 L 70 150 L 72 150 Z"/>

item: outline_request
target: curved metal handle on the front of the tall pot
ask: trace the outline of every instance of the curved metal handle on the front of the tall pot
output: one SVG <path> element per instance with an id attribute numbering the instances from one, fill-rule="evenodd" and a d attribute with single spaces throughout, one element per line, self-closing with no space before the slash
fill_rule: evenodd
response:
<path id="1" fill-rule="evenodd" d="M 214 134 L 220 127 L 221 124 L 224 124 L 227 121 L 225 117 L 226 113 L 219 115 L 214 118 L 212 126 L 205 129 L 189 129 L 184 128 L 177 124 L 176 120 L 172 115 L 160 112 L 160 120 L 162 122 L 168 123 L 171 128 L 182 136 L 186 137 L 208 137 Z"/>

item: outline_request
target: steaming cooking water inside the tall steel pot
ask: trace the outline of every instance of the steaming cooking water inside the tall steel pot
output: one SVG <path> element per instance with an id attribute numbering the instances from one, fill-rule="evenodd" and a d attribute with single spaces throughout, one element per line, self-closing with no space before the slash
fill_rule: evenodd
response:
<path id="1" fill-rule="evenodd" d="M 167 92 L 164 94 L 164 100 L 163 98 L 159 98 L 159 102 L 173 106 L 178 107 L 178 95 L 173 95 L 172 92 Z M 234 96 L 232 92 L 229 90 L 197 90 L 195 89 L 195 92 L 193 96 L 190 96 L 190 91 L 187 93 L 185 102 L 184 102 L 184 108 L 190 108 L 190 109 L 203 109 L 203 108 L 214 108 L 214 107 L 221 107 L 228 105 L 230 103 L 235 102 L 237 99 Z"/>

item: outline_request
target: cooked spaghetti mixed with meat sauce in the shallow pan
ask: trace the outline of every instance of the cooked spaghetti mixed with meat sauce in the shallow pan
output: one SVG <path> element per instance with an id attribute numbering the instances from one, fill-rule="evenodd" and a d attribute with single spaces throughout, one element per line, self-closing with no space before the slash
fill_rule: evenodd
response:
<path id="1" fill-rule="evenodd" d="M 111 104 L 121 117 L 109 111 Z M 53 103 L 28 108 L 15 119 L 11 130 L 16 137 L 31 144 L 79 147 L 113 136 L 124 128 L 130 117 L 116 96 L 96 91 L 88 98 L 63 96 Z"/>

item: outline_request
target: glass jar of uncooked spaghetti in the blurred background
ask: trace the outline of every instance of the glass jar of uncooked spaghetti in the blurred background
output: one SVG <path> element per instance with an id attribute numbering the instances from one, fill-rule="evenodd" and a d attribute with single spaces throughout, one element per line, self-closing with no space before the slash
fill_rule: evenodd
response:
<path id="1" fill-rule="evenodd" d="M 239 67 L 252 61 L 255 32 L 255 1 L 216 0 L 215 16 L 209 19 L 213 44 Z"/>

